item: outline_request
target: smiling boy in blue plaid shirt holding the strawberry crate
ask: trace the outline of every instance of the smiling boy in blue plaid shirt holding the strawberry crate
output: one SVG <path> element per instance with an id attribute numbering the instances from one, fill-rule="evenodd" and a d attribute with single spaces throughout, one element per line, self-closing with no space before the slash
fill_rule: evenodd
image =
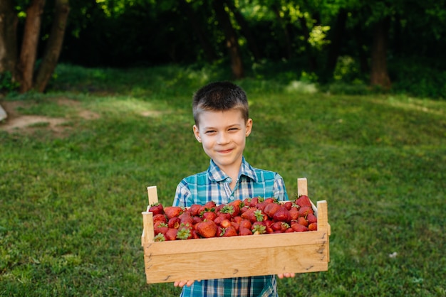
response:
<path id="1" fill-rule="evenodd" d="M 284 180 L 272 171 L 252 168 L 244 159 L 251 134 L 247 95 L 231 82 L 212 82 L 193 96 L 195 138 L 211 158 L 207 171 L 183 179 L 173 205 L 218 204 L 254 197 L 288 200 Z M 292 273 L 279 278 L 293 277 Z M 181 296 L 277 296 L 275 276 L 176 281 Z"/>

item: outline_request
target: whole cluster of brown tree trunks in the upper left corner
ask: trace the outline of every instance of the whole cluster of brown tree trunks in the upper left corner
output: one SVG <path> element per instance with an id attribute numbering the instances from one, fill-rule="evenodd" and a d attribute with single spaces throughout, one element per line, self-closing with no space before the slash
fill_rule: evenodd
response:
<path id="1" fill-rule="evenodd" d="M 61 53 L 63 36 L 69 12 L 69 0 L 55 0 L 53 27 L 46 42 L 43 58 L 36 70 L 38 43 L 41 41 L 41 23 L 45 0 L 31 0 L 24 11 L 26 19 L 19 51 L 17 50 L 17 23 L 12 0 L 1 0 L 0 4 L 0 72 L 11 72 L 19 83 L 19 92 L 46 89 Z M 17 54 L 19 52 L 19 55 Z"/>

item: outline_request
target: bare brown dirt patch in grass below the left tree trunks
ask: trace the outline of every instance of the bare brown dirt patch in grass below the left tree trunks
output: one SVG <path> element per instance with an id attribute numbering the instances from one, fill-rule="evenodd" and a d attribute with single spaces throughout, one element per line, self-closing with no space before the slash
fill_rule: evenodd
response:
<path id="1" fill-rule="evenodd" d="M 82 119 L 98 119 L 99 115 L 86 109 L 81 108 L 81 103 L 76 100 L 67 98 L 54 99 L 58 105 L 63 105 L 76 109 L 78 117 Z M 0 130 L 8 132 L 33 132 L 36 129 L 48 129 L 61 134 L 68 126 L 68 117 L 45 117 L 41 115 L 21 114 L 18 109 L 28 108 L 37 102 L 22 101 L 3 101 L 0 102 L 1 107 L 5 110 L 8 117 L 0 122 Z"/>

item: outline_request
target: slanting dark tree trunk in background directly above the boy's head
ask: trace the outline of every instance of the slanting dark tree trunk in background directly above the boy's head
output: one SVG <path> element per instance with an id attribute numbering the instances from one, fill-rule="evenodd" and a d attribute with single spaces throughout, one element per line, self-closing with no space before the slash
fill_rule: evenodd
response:
<path id="1" fill-rule="evenodd" d="M 212 1 L 212 6 L 217 16 L 217 21 L 221 26 L 224 36 L 226 38 L 229 56 L 231 58 L 231 68 L 234 78 L 240 79 L 244 77 L 244 68 L 242 63 L 242 55 L 239 50 L 239 42 L 237 41 L 237 33 L 232 27 L 231 19 L 228 13 L 224 10 L 223 0 Z"/>

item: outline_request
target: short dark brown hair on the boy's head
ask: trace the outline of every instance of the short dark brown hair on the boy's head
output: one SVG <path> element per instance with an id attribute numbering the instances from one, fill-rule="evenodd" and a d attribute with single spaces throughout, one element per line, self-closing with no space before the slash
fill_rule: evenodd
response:
<path id="1" fill-rule="evenodd" d="M 249 119 L 247 94 L 232 82 L 211 82 L 195 92 L 192 99 L 192 112 L 197 126 L 199 114 L 205 111 L 239 109 L 244 121 Z"/>

